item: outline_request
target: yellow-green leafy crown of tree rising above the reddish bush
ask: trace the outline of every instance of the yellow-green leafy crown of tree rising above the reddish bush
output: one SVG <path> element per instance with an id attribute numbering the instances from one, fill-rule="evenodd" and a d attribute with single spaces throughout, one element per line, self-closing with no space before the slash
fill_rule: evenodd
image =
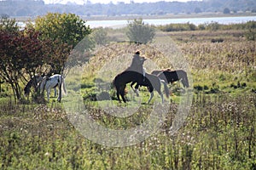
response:
<path id="1" fill-rule="evenodd" d="M 48 13 L 35 20 L 35 29 L 42 33 L 43 39 L 67 43 L 72 47 L 91 33 L 90 26 L 85 26 L 85 21 L 75 14 Z"/>

